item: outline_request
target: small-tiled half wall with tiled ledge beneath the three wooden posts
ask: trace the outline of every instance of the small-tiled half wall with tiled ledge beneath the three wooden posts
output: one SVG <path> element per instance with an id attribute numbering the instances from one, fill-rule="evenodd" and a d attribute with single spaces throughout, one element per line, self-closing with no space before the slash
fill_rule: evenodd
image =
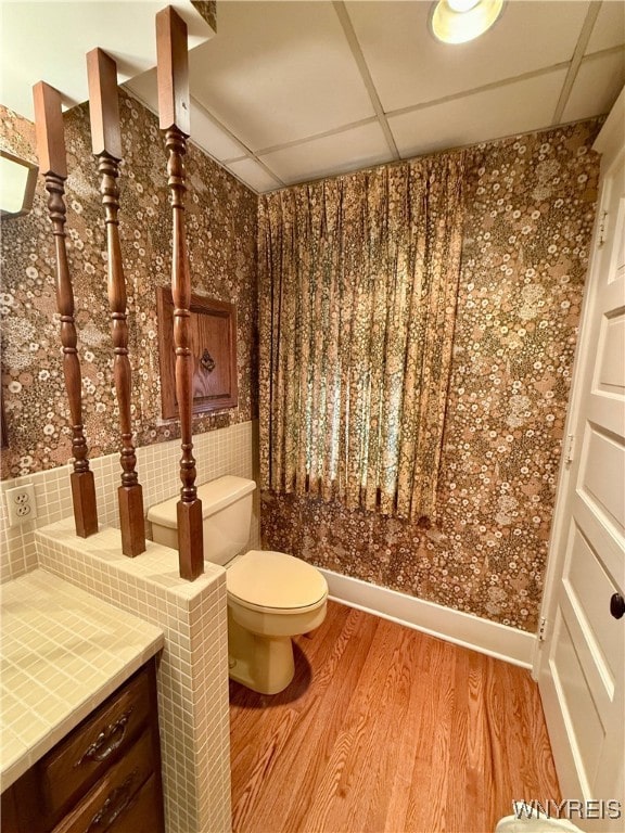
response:
<path id="1" fill-rule="evenodd" d="M 226 571 L 206 564 L 195 581 L 178 575 L 175 550 L 148 541 L 122 554 L 112 527 L 77 538 L 74 520 L 38 529 L 39 566 L 157 625 L 158 723 L 167 833 L 229 833 L 230 721 Z"/>

